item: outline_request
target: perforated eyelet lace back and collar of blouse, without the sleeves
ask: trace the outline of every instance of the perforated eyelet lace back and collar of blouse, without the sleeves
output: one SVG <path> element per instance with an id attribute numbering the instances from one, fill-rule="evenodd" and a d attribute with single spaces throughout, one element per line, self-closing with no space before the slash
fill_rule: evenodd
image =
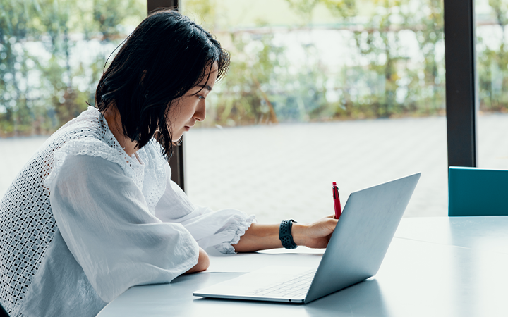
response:
<path id="1" fill-rule="evenodd" d="M 144 164 L 123 151 L 99 111 L 89 107 L 47 139 L 25 164 L 0 201 L 0 300 L 11 316 L 16 316 L 56 232 L 49 185 L 66 156 L 99 156 L 119 164 L 154 213 L 165 189 L 166 162 L 154 141 L 137 153 L 141 161 L 155 163 L 150 175 L 145 175 Z M 153 181 L 146 183 L 145 176 Z"/>

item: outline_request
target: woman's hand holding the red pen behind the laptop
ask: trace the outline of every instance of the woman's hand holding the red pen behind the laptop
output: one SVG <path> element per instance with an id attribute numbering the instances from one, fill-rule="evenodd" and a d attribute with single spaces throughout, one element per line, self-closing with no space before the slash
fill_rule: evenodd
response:
<path id="1" fill-rule="evenodd" d="M 327 216 L 310 225 L 293 223 L 291 235 L 297 245 L 314 249 L 326 248 L 338 221 L 334 216 Z"/>

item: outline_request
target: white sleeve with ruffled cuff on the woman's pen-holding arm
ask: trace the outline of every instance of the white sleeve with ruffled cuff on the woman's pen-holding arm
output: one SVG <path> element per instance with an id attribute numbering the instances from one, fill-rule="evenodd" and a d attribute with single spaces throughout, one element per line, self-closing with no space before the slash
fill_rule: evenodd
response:
<path id="1" fill-rule="evenodd" d="M 170 178 L 167 166 L 166 191 L 155 207 L 155 216 L 162 221 L 181 223 L 203 249 L 214 247 L 224 254 L 234 254 L 234 244 L 255 222 L 255 216 L 248 216 L 236 209 L 212 209 L 195 206 Z"/>

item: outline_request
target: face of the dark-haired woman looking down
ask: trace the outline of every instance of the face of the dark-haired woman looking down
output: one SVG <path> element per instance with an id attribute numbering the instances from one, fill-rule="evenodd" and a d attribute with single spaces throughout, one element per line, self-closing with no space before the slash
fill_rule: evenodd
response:
<path id="1" fill-rule="evenodd" d="M 217 71 L 217 61 L 214 61 L 210 76 L 205 76 L 198 85 L 180 97 L 176 101 L 176 106 L 169 110 L 168 125 L 171 129 L 172 141 L 178 141 L 183 132 L 190 130 L 196 121 L 205 120 L 206 97 L 212 91 L 215 80 L 217 80 Z"/>

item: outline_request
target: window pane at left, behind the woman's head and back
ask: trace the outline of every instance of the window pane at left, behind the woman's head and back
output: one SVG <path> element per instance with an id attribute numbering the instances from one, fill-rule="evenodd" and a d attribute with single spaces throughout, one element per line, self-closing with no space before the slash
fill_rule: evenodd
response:
<path id="1" fill-rule="evenodd" d="M 0 195 L 47 136 L 94 104 L 146 0 L 0 0 Z"/>

